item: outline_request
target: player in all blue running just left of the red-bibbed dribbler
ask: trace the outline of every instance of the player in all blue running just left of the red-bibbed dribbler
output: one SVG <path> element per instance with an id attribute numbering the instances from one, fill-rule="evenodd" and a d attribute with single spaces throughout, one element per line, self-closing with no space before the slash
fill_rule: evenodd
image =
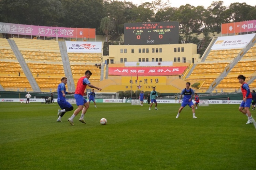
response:
<path id="1" fill-rule="evenodd" d="M 57 88 L 57 103 L 61 110 L 58 110 L 58 119 L 57 122 L 61 122 L 61 118 L 67 111 L 71 111 L 74 109 L 74 107 L 66 101 L 66 94 L 74 94 L 74 92 L 66 92 L 66 87 L 65 85 L 67 84 L 67 77 L 61 77 L 61 83 L 58 85 Z M 52 97 L 52 95 L 51 95 Z"/>

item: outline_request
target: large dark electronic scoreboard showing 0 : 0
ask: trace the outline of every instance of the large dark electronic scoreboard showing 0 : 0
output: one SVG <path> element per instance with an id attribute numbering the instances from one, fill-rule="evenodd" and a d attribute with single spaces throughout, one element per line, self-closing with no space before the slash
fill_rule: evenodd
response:
<path id="1" fill-rule="evenodd" d="M 178 22 L 127 23 L 124 45 L 179 44 Z"/>

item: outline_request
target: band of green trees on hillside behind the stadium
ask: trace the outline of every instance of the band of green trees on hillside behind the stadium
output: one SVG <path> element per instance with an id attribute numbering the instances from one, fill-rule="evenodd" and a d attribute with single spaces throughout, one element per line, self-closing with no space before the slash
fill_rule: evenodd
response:
<path id="1" fill-rule="evenodd" d="M 176 8 L 170 1 L 162 0 L 139 5 L 117 0 L 0 1 L 0 22 L 99 30 L 102 18 L 106 17 L 113 21 L 113 34 L 124 33 L 124 23 L 179 21 L 180 33 L 185 34 L 186 41 L 193 42 L 191 33 L 204 29 L 219 32 L 221 23 L 254 20 L 256 7 L 237 2 L 224 6 L 223 1 L 209 2 L 206 9 L 190 4 Z"/>

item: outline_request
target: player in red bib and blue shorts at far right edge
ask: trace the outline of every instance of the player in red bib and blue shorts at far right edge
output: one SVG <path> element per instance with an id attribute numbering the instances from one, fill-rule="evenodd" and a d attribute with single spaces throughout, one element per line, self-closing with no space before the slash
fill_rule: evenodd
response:
<path id="1" fill-rule="evenodd" d="M 239 106 L 239 111 L 242 112 L 243 114 L 245 114 L 248 117 L 248 121 L 246 124 L 250 124 L 252 123 L 252 114 L 250 112 L 250 106 L 252 103 L 252 93 L 250 91 L 250 88 L 248 86 L 247 83 L 244 82 L 245 80 L 245 76 L 244 75 L 238 75 L 237 79 L 239 81 L 239 83 L 241 83 L 241 91 L 243 94 L 243 101 Z"/>

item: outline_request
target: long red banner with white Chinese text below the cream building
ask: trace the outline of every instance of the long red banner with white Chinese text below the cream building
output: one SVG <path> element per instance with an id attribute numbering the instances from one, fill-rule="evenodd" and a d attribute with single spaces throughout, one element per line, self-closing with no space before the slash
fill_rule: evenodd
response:
<path id="1" fill-rule="evenodd" d="M 171 76 L 182 75 L 187 66 L 109 67 L 110 76 Z"/>

